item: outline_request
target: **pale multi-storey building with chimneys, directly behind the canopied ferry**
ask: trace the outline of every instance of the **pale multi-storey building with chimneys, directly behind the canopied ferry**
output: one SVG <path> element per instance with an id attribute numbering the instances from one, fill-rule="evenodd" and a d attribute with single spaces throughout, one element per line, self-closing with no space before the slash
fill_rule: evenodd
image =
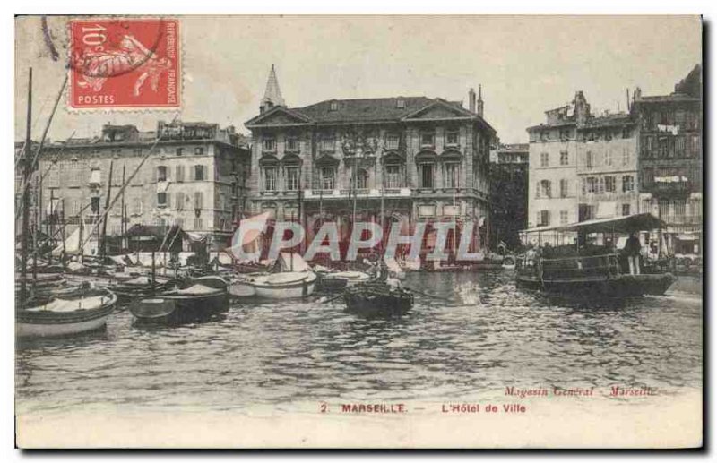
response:
<path id="1" fill-rule="evenodd" d="M 636 213 L 637 140 L 626 113 L 593 115 L 583 92 L 530 134 L 529 226 Z"/>

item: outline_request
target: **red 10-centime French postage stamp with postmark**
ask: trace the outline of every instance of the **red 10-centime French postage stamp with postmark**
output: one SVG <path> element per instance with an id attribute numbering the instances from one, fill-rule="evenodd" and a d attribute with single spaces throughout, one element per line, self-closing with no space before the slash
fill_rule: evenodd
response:
<path id="1" fill-rule="evenodd" d="M 176 19 L 75 20 L 70 34 L 70 107 L 180 106 Z"/>

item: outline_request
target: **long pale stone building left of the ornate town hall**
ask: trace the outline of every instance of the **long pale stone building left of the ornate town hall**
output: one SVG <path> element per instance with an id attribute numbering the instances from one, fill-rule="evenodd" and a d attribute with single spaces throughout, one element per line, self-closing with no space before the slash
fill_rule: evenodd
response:
<path id="1" fill-rule="evenodd" d="M 98 136 L 46 145 L 39 159 L 41 222 L 49 230 L 64 217 L 66 236 L 82 218 L 89 233 L 105 211 L 108 183 L 113 199 L 127 183 L 108 214 L 108 236 L 135 224 L 179 225 L 224 247 L 246 209 L 249 162 L 231 126 L 159 122 L 157 131 L 141 132 L 104 125 Z"/>

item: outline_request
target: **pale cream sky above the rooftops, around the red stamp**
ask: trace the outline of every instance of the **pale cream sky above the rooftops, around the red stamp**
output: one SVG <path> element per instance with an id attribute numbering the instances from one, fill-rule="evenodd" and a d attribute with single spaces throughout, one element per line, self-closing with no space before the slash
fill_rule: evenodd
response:
<path id="1" fill-rule="evenodd" d="M 289 107 L 324 99 L 426 96 L 468 105 L 482 86 L 484 117 L 505 143 L 583 90 L 593 112 L 625 110 L 626 89 L 667 94 L 701 63 L 696 16 L 185 16 L 180 17 L 183 105 L 178 112 L 76 113 L 63 98 L 51 140 L 98 134 L 102 124 L 154 130 L 158 120 L 234 125 L 258 114 L 274 64 Z M 63 17 L 48 18 L 65 50 Z M 60 90 L 39 17 L 15 22 L 15 139 L 24 139 L 33 67 L 33 138 Z"/>

